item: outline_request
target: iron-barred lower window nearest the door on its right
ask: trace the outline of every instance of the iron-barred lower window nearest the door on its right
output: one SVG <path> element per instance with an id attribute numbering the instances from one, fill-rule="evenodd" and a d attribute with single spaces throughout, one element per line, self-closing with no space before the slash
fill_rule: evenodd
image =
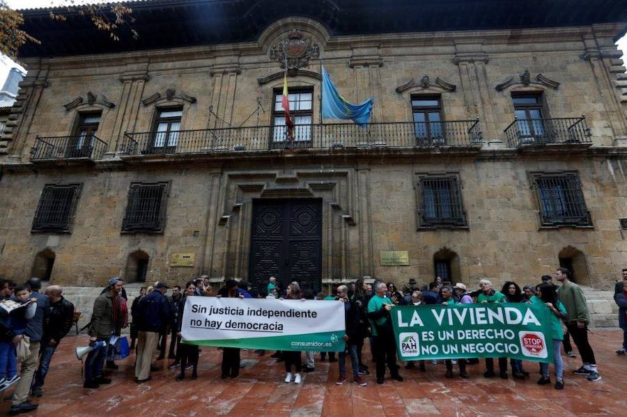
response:
<path id="1" fill-rule="evenodd" d="M 439 173 L 416 173 L 416 223 L 417 230 L 433 230 L 435 228 L 444 229 L 461 229 L 468 230 L 467 214 L 464 207 L 463 198 L 463 183 L 458 172 L 439 172 Z M 426 221 L 424 217 L 424 183 L 425 180 L 442 180 L 454 183 L 456 191 L 456 201 L 451 202 L 451 205 L 456 206 L 460 216 L 456 217 L 457 221 L 446 221 L 441 218 L 441 221 Z M 454 219 L 454 217 L 451 217 Z"/>

